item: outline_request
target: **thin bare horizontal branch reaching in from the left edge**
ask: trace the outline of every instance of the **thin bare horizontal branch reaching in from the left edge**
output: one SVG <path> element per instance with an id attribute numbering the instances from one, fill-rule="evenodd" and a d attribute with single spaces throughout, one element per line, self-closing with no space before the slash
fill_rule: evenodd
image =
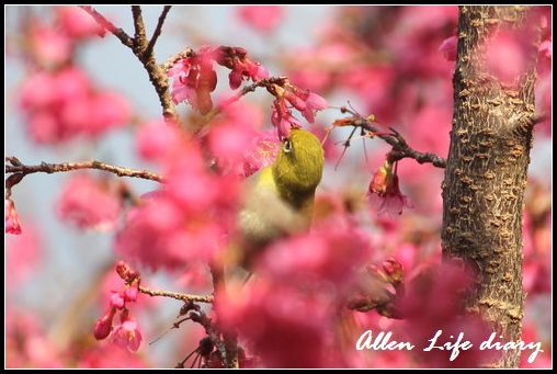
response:
<path id="1" fill-rule="evenodd" d="M 36 172 L 45 172 L 52 174 L 54 172 L 67 172 L 82 169 L 104 170 L 118 177 L 140 178 L 157 182 L 163 182 L 162 177 L 151 171 L 116 167 L 96 160 L 64 163 L 41 162 L 39 165 L 34 166 L 23 165 L 15 157 L 7 157 L 5 160 L 11 163 L 5 166 L 5 172 L 12 174 L 7 179 L 7 189 L 11 189 L 13 185 L 18 184 L 23 179 L 23 177 L 27 174 Z"/>

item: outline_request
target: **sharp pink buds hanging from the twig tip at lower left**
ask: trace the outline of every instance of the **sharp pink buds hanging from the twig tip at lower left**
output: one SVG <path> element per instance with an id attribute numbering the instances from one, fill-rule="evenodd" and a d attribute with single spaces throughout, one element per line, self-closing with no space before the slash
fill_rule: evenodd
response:
<path id="1" fill-rule="evenodd" d="M 112 332 L 112 341 L 117 345 L 135 352 L 141 344 L 143 336 L 137 320 L 132 317 L 127 303 L 135 303 L 139 294 L 139 273 L 123 261 L 116 264 L 116 272 L 126 281 L 126 287 L 113 291 L 109 308 L 94 325 L 96 340 L 106 339 Z M 114 325 L 114 317 L 120 313 L 120 325 Z"/>

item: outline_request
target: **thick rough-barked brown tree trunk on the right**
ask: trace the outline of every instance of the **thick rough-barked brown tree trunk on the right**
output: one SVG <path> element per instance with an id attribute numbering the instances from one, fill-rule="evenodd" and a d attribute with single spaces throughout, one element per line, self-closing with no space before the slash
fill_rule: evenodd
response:
<path id="1" fill-rule="evenodd" d="M 526 7 L 461 7 L 458 21 L 453 129 L 443 182 L 443 257 L 475 267 L 477 290 L 467 310 L 480 313 L 504 341 L 515 341 L 523 316 L 522 209 L 538 33 Z M 511 83 L 486 63 L 490 38 L 503 31 L 516 32 L 526 46 L 525 68 Z M 519 361 L 520 351 L 508 351 L 492 365 L 518 367 Z"/>

